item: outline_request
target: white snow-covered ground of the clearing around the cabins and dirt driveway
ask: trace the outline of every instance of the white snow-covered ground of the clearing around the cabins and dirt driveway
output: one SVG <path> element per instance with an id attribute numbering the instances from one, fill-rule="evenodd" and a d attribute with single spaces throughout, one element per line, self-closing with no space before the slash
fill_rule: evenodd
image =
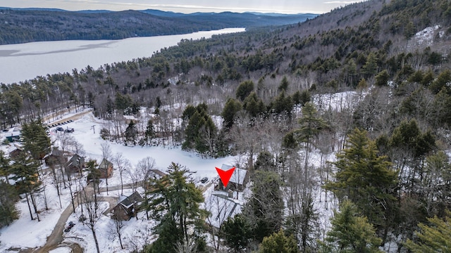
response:
<path id="1" fill-rule="evenodd" d="M 66 119 L 69 117 L 73 117 L 75 112 L 67 112 L 65 115 L 61 115 L 58 117 L 58 120 Z M 82 144 L 83 149 L 85 150 L 86 159 L 95 159 L 98 162 L 101 161 L 101 144 L 105 143 L 104 140 L 101 139 L 99 135 L 99 130 L 101 129 L 104 121 L 95 118 L 92 115 L 92 112 L 89 112 L 83 115 L 80 119 L 77 119 L 68 124 L 62 125 L 64 129 L 66 127 L 73 128 L 75 131 L 73 133 L 67 133 L 72 135 L 75 140 Z M 94 126 L 94 128 L 92 127 Z M 50 129 L 50 135 L 52 141 L 56 140 L 58 135 L 65 134 L 62 132 L 56 133 L 55 128 Z M 95 133 L 94 133 L 95 130 Z M 0 134 L 0 141 L 4 139 L 4 134 Z M 235 157 L 224 157 L 221 159 L 202 159 L 195 153 L 189 153 L 181 150 L 179 147 L 144 147 L 141 146 L 125 146 L 119 143 L 109 143 L 111 147 L 112 155 L 116 155 L 116 153 L 122 153 L 123 157 L 130 160 L 131 167 L 127 168 L 128 171 L 134 171 L 139 160 L 144 157 L 152 157 L 155 161 L 155 169 L 159 169 L 161 171 L 166 171 L 171 162 L 179 163 L 190 171 L 192 171 L 192 178 L 194 181 L 199 182 L 200 179 L 205 176 L 211 179 L 217 177 L 217 172 L 215 167 L 221 167 L 222 164 L 234 164 Z M 6 152 L 6 145 L 2 145 L 1 149 Z M 116 166 L 116 165 L 115 165 Z M 123 176 L 124 183 L 131 183 L 131 179 L 127 176 L 127 172 L 125 172 Z M 45 211 L 44 201 L 42 200 L 43 193 L 39 194 L 39 205 L 38 209 L 41 212 L 39 214 L 39 218 L 41 219 L 38 222 L 36 219 L 31 221 L 30 214 L 27 207 L 27 202 L 25 199 L 18 202 L 17 209 L 19 211 L 20 217 L 18 220 L 14 221 L 10 226 L 6 228 L 2 228 L 0 230 L 0 252 L 5 252 L 6 249 L 10 248 L 25 248 L 25 247 L 41 247 L 45 244 L 47 237 L 53 231 L 56 222 L 58 221 L 61 212 L 63 212 L 68 205 L 70 205 L 70 193 L 68 189 L 63 190 L 63 195 L 61 196 L 62 208 L 60 208 L 58 197 L 56 195 L 56 188 L 52 187 L 51 184 L 51 176 L 47 172 L 44 180 L 46 181 L 47 188 L 47 200 L 49 201 L 49 210 Z M 121 178 L 118 171 L 113 171 L 113 176 L 108 181 L 109 187 L 120 186 Z M 106 186 L 105 181 L 102 181 L 100 187 Z M 124 190 L 124 195 L 130 195 L 131 190 Z M 102 193 L 101 195 L 106 195 L 106 193 Z M 109 193 L 109 196 L 119 196 L 119 190 L 113 190 Z M 33 212 L 33 215 L 36 216 Z M 80 215 L 80 214 L 78 214 Z M 145 218 L 145 214 L 138 215 L 141 218 Z M 76 221 L 76 217 L 70 217 L 70 220 Z M 109 231 L 111 231 L 110 227 L 113 221 L 107 216 L 101 216 L 99 223 L 97 224 L 97 231 L 99 233 L 99 244 L 101 248 L 108 249 L 108 252 L 121 252 L 119 242 L 116 239 L 111 240 L 111 235 Z M 128 248 L 123 252 L 130 252 L 130 247 L 142 247 L 144 242 L 149 242 L 149 238 L 142 238 L 143 233 L 151 233 L 148 228 L 152 225 L 152 221 L 147 221 L 144 219 L 140 219 L 140 221 L 136 221 L 132 219 L 130 221 L 125 222 L 124 228 L 124 236 L 123 239 L 127 242 Z M 152 225 L 153 226 L 153 225 Z M 139 233 L 139 235 L 138 235 Z M 86 249 L 86 252 L 92 252 L 95 250 L 94 242 L 92 239 L 91 231 L 87 230 L 85 226 L 80 226 L 80 224 L 76 225 L 75 229 L 71 230 L 69 233 L 65 233 L 66 242 L 76 242 L 80 246 Z M 73 237 L 73 238 L 72 238 Z M 83 240 L 79 240 L 77 238 L 85 238 Z M 131 243 L 131 245 L 130 245 Z M 68 249 L 65 247 L 65 249 Z M 65 249 L 61 249 L 61 252 L 65 252 Z M 56 251 L 58 252 L 58 251 Z"/>

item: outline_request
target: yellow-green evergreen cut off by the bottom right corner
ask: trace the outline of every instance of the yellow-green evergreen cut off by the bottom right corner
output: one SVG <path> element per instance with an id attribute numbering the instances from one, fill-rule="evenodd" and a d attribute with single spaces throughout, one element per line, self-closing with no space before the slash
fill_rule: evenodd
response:
<path id="1" fill-rule="evenodd" d="M 416 240 L 407 239 L 406 247 L 414 253 L 451 252 L 451 213 L 445 219 L 437 216 L 428 218 L 428 224 L 419 223 L 421 231 L 416 232 Z"/>

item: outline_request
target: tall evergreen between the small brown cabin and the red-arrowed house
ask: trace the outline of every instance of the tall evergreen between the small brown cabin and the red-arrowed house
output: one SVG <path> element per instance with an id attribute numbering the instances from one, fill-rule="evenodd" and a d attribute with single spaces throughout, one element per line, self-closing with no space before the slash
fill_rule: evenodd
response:
<path id="1" fill-rule="evenodd" d="M 190 230 L 194 233 L 203 230 L 206 211 L 199 205 L 204 196 L 194 183 L 187 182 L 188 172 L 180 164 L 172 163 L 167 176 L 150 180 L 152 199 L 146 208 L 157 222 L 154 232 L 159 235 L 151 252 L 175 252 L 177 242 L 197 236 L 189 234 Z"/>

